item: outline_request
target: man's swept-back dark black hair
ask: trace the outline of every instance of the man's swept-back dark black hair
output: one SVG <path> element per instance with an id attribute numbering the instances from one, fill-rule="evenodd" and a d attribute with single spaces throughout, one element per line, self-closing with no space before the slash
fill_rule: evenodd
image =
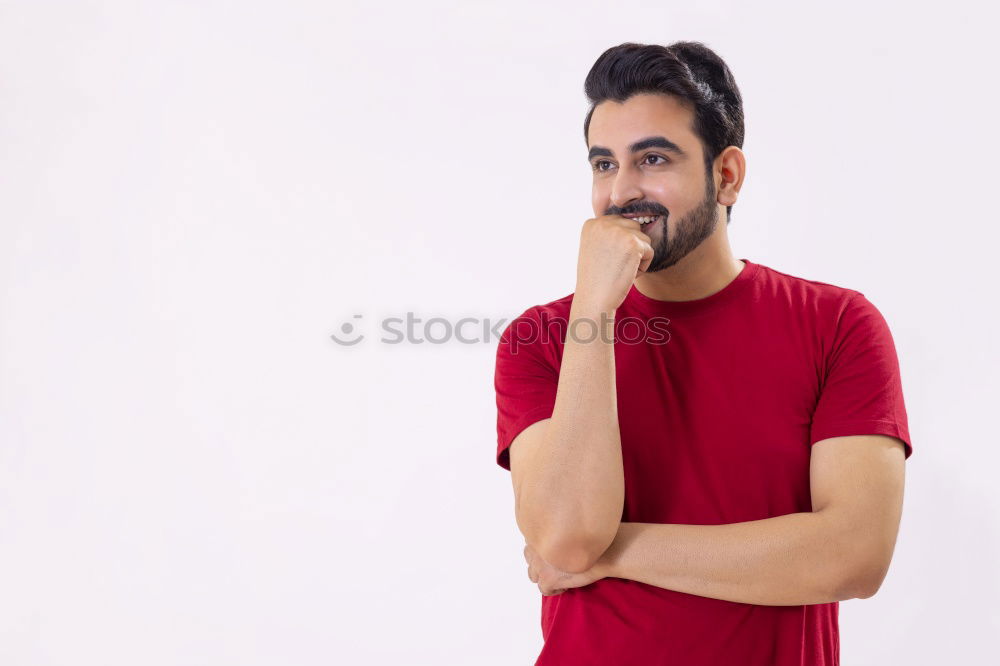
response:
<path id="1" fill-rule="evenodd" d="M 743 147 L 743 98 L 729 67 L 701 42 L 669 46 L 626 42 L 597 59 L 583 84 L 590 111 L 583 121 L 588 140 L 594 108 L 606 100 L 623 103 L 639 93 L 661 93 L 694 107 L 692 131 L 701 141 L 705 171 L 727 146 Z M 732 214 L 726 206 L 726 224 Z"/>

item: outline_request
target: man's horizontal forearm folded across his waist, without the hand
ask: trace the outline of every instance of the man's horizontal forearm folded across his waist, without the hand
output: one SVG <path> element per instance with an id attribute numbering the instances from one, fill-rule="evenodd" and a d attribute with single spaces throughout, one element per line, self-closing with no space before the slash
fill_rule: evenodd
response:
<path id="1" fill-rule="evenodd" d="M 606 576 L 765 606 L 859 596 L 848 532 L 822 511 L 726 525 L 621 523 Z"/>

